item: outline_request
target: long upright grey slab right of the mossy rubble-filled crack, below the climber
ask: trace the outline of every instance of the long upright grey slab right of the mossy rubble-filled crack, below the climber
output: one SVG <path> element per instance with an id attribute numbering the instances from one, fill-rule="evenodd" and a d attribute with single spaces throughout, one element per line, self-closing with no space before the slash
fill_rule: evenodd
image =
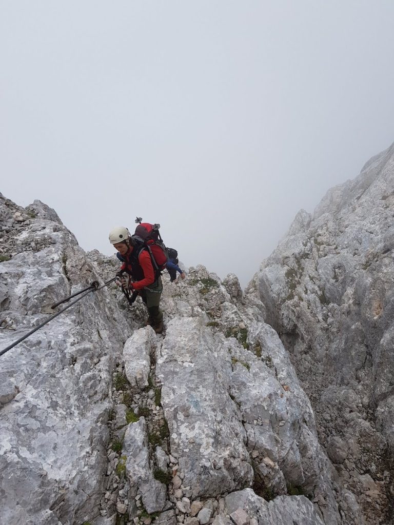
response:
<path id="1" fill-rule="evenodd" d="M 171 453 L 193 497 L 251 484 L 246 434 L 229 396 L 230 359 L 200 319 L 168 323 L 156 373 Z"/>

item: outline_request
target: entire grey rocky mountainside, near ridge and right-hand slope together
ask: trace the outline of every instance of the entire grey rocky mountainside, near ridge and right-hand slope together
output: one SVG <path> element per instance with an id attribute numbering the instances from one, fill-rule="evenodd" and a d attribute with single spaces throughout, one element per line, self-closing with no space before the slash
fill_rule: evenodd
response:
<path id="1" fill-rule="evenodd" d="M 299 213 L 246 293 L 163 276 L 163 335 L 110 285 L 0 356 L 0 520 L 389 523 L 392 170 Z M 0 221 L 1 350 L 118 261 L 39 201 Z"/>

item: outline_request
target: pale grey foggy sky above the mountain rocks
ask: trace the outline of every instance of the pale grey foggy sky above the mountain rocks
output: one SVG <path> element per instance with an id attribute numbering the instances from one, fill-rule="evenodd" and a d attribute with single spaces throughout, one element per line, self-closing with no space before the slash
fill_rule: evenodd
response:
<path id="1" fill-rule="evenodd" d="M 0 191 L 245 286 L 394 141 L 392 0 L 0 0 Z"/>

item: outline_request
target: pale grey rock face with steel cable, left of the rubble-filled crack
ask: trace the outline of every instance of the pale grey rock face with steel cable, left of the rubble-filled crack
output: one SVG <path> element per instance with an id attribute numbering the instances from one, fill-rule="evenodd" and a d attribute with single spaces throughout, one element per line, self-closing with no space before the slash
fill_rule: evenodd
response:
<path id="1" fill-rule="evenodd" d="M 0 217 L 4 349 L 53 313 L 50 304 L 101 279 L 39 201 L 23 209 L 1 196 Z M 103 289 L 1 356 L 2 523 L 82 523 L 98 512 L 111 370 L 131 330 Z"/>

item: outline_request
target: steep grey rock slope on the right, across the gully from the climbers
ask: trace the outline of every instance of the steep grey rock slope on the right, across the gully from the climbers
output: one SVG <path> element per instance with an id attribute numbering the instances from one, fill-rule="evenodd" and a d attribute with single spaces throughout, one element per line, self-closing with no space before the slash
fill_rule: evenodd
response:
<path id="1" fill-rule="evenodd" d="M 319 438 L 368 523 L 391 522 L 394 145 L 299 212 L 246 296 L 291 355 Z"/>

